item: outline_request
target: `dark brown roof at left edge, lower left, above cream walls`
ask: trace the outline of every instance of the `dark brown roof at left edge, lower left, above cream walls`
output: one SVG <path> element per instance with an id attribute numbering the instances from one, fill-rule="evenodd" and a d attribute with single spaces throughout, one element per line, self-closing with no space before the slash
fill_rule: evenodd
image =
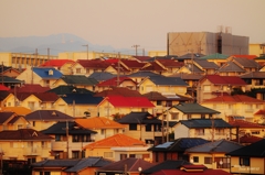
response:
<path id="1" fill-rule="evenodd" d="M 53 138 L 43 134 L 33 129 L 8 130 L 0 132 L 0 140 L 53 140 Z"/>

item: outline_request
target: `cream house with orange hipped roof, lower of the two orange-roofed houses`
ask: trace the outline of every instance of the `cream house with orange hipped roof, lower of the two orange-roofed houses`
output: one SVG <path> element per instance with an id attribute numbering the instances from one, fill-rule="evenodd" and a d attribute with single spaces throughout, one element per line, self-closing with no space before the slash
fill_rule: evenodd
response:
<path id="1" fill-rule="evenodd" d="M 149 146 L 145 142 L 125 134 L 115 134 L 106 139 L 84 145 L 85 156 L 103 156 L 113 161 L 127 157 L 150 160 Z"/>

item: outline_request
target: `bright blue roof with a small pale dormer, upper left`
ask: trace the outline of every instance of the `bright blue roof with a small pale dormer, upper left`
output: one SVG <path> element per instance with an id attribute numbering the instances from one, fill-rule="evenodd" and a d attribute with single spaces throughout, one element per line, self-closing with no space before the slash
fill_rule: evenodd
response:
<path id="1" fill-rule="evenodd" d="M 32 70 L 43 79 L 59 79 L 63 76 L 56 68 L 33 67 Z M 50 74 L 49 74 L 50 73 Z"/>

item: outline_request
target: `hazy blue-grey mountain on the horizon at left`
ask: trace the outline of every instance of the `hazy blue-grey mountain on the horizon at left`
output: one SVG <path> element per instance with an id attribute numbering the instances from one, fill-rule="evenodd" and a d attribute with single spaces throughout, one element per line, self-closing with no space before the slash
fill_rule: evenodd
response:
<path id="1" fill-rule="evenodd" d="M 76 35 L 62 33 L 49 36 L 0 37 L 0 52 L 33 54 L 38 48 L 39 54 L 46 55 L 50 48 L 50 55 L 57 55 L 62 52 L 86 51 L 86 47 L 82 46 L 85 44 L 89 45 L 89 51 L 115 51 L 109 45 L 94 45 Z"/>

